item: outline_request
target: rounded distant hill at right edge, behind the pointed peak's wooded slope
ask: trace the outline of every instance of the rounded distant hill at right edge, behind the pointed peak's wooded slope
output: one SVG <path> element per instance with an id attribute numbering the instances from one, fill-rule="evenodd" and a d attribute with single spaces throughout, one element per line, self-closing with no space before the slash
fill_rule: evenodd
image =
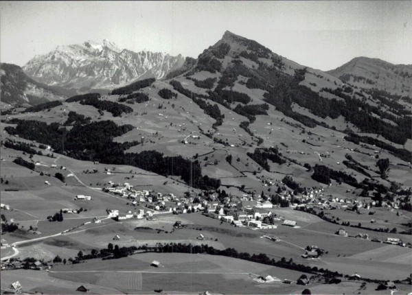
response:
<path id="1" fill-rule="evenodd" d="M 354 58 L 330 75 L 361 88 L 377 88 L 412 97 L 412 64 L 391 64 L 378 58 Z"/>

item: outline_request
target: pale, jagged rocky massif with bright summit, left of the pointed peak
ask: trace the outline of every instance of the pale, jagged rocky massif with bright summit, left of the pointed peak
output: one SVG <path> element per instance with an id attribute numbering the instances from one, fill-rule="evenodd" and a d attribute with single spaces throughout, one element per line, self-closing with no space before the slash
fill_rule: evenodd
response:
<path id="1" fill-rule="evenodd" d="M 38 82 L 87 91 L 115 88 L 144 78 L 161 79 L 184 62 L 181 55 L 121 50 L 105 39 L 102 43 L 58 46 L 32 58 L 23 71 Z"/>

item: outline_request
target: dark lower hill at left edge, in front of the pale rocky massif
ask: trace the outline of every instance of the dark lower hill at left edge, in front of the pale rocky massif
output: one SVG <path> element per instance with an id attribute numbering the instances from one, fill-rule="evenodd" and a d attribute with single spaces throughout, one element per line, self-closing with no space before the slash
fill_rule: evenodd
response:
<path id="1" fill-rule="evenodd" d="M 13 106 L 35 106 L 52 100 L 65 99 L 71 91 L 38 83 L 27 77 L 21 67 L 15 64 L 0 64 L 0 98 L 1 102 Z"/>

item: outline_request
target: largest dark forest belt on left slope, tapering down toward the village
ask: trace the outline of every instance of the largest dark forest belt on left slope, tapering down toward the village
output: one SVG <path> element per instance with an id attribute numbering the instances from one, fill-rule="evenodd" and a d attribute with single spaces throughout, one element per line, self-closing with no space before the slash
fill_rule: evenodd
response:
<path id="1" fill-rule="evenodd" d="M 131 165 L 163 176 L 181 176 L 182 180 L 199 189 L 217 189 L 220 180 L 202 176 L 201 165 L 181 156 L 163 156 L 156 151 L 125 153 L 130 144 L 113 141 L 133 130 L 131 125 L 117 126 L 113 121 L 98 121 L 85 125 L 76 124 L 67 131 L 58 123 L 47 125 L 39 121 L 13 119 L 16 128 L 7 126 L 10 134 L 19 134 L 24 139 L 51 145 L 55 152 L 83 161 L 100 161 L 115 165 Z M 34 169 L 34 164 L 32 168 Z"/>

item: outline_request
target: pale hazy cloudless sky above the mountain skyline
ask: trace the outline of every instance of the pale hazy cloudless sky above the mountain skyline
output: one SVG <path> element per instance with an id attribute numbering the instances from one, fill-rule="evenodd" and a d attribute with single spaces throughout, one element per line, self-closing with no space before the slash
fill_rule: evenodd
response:
<path id="1" fill-rule="evenodd" d="M 412 64 L 412 1 L 1 1 L 0 60 L 104 38 L 196 58 L 227 29 L 322 70 L 356 56 Z"/>

